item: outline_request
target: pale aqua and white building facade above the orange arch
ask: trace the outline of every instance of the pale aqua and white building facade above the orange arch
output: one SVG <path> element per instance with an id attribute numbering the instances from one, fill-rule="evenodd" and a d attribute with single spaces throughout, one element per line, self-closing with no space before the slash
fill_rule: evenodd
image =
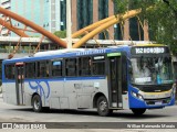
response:
<path id="1" fill-rule="evenodd" d="M 11 0 L 11 11 L 33 21 L 50 32 L 60 30 L 60 0 Z M 14 23 L 20 26 L 20 23 Z"/>

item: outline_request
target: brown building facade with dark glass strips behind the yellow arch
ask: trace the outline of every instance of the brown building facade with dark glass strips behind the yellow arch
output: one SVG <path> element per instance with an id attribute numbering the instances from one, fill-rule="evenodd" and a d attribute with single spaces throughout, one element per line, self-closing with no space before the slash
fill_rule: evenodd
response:
<path id="1" fill-rule="evenodd" d="M 62 0 L 65 4 L 66 0 Z M 75 32 L 88 24 L 97 22 L 107 16 L 114 15 L 116 7 L 112 0 L 71 0 L 72 1 L 72 31 Z M 65 19 L 65 18 L 64 18 Z M 64 21 L 65 22 L 65 21 Z M 66 24 L 66 23 L 65 23 Z M 148 24 L 144 23 L 144 29 L 139 28 L 136 18 L 125 21 L 122 26 L 115 24 L 108 29 L 106 35 L 101 33 L 97 38 L 134 40 L 148 41 Z"/>

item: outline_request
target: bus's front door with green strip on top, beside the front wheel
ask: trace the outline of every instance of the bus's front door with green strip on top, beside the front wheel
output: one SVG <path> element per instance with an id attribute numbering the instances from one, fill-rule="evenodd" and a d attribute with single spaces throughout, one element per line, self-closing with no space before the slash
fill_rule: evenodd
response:
<path id="1" fill-rule="evenodd" d="M 122 56 L 110 53 L 108 58 L 108 97 L 111 108 L 123 108 L 122 103 Z"/>

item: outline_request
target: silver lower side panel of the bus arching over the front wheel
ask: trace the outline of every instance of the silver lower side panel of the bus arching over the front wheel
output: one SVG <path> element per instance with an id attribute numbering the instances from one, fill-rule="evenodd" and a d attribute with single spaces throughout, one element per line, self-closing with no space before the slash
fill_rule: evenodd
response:
<path id="1" fill-rule="evenodd" d="M 80 80 L 65 81 L 65 96 L 69 95 L 70 109 L 93 108 L 93 98 L 102 92 L 108 100 L 107 80 L 82 78 Z"/>

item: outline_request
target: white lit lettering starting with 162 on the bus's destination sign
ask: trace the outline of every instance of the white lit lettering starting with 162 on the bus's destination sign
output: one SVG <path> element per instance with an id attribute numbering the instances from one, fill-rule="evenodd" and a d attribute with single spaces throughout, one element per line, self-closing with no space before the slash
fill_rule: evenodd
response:
<path id="1" fill-rule="evenodd" d="M 136 48 L 136 54 L 159 54 L 165 53 L 164 47 L 138 47 Z"/>

